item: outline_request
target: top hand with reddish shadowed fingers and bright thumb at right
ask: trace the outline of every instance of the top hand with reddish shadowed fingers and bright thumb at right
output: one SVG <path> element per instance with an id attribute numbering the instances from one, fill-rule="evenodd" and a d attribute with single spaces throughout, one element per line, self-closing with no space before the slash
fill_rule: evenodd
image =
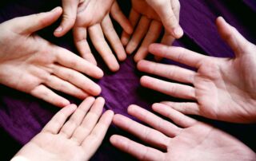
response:
<path id="1" fill-rule="evenodd" d="M 142 41 L 134 61 L 144 59 L 151 43 L 157 41 L 162 31 L 162 24 L 166 32 L 162 37 L 162 44 L 171 45 L 175 38 L 182 37 L 182 28 L 178 25 L 180 4 L 178 0 L 132 0 L 130 22 L 137 26 L 132 37 L 124 31 L 122 44 L 126 45 L 126 53 L 133 53 Z M 175 32 L 174 32 L 175 31 Z"/>

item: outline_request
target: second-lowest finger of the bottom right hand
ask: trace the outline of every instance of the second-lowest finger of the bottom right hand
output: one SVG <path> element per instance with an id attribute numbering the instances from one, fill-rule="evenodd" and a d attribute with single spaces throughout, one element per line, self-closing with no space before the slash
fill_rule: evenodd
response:
<path id="1" fill-rule="evenodd" d="M 168 138 L 166 135 L 163 135 L 162 132 L 158 132 L 153 128 L 148 128 L 142 124 L 139 124 L 138 122 L 131 120 L 126 116 L 118 114 L 115 115 L 113 123 L 118 126 L 118 128 L 122 128 L 124 131 L 130 132 L 131 134 L 138 137 L 138 139 L 142 139 L 142 141 L 145 143 L 149 143 L 155 147 L 166 149 L 167 143 L 170 141 L 170 138 Z"/>

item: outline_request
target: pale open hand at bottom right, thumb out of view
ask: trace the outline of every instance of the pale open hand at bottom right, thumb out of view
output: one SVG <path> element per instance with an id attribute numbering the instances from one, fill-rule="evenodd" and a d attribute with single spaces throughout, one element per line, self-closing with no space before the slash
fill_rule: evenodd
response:
<path id="1" fill-rule="evenodd" d="M 238 139 L 209 124 L 184 116 L 164 104 L 154 104 L 153 110 L 174 121 L 179 127 L 143 108 L 132 105 L 128 108 L 128 113 L 152 128 L 122 115 L 115 115 L 113 122 L 147 145 L 136 143 L 121 135 L 112 135 L 110 143 L 139 160 L 233 161 L 254 160 L 256 157 L 254 151 Z"/>

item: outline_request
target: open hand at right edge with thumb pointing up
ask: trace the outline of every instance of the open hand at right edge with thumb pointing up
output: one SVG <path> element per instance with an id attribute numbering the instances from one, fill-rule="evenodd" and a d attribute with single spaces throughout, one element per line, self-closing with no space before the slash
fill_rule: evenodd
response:
<path id="1" fill-rule="evenodd" d="M 190 85 L 142 77 L 141 84 L 170 96 L 197 102 L 164 102 L 185 114 L 237 123 L 256 121 L 256 47 L 223 18 L 217 19 L 220 35 L 234 50 L 234 58 L 207 57 L 180 47 L 151 45 L 158 57 L 189 65 L 196 72 L 174 65 L 141 61 L 138 69 Z"/>

